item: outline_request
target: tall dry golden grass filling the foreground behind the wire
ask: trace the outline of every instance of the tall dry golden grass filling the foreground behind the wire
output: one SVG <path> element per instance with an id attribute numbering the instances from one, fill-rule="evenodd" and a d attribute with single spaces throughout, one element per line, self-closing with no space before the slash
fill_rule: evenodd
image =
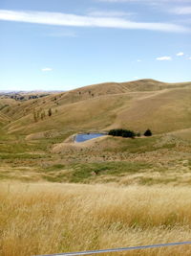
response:
<path id="1" fill-rule="evenodd" d="M 0 200 L 2 256 L 191 240 L 188 187 L 1 183 Z M 191 246 L 113 255 L 191 255 Z"/>

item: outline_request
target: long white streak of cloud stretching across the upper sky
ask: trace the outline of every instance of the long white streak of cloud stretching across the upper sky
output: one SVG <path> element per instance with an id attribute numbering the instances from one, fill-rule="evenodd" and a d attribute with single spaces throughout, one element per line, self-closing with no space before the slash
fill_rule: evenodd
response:
<path id="1" fill-rule="evenodd" d="M 15 12 L 0 10 L 0 20 L 30 22 L 54 26 L 99 27 L 176 33 L 190 32 L 190 29 L 172 23 L 135 22 L 122 17 L 95 17 L 61 12 Z"/>

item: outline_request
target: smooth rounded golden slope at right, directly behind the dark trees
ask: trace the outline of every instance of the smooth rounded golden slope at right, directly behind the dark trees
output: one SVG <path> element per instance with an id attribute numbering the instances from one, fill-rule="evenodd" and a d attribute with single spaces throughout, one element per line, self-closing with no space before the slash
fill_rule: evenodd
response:
<path id="1" fill-rule="evenodd" d="M 113 127 L 151 128 L 154 132 L 168 132 L 191 127 L 191 89 L 179 88 L 135 101 L 117 115 Z"/>

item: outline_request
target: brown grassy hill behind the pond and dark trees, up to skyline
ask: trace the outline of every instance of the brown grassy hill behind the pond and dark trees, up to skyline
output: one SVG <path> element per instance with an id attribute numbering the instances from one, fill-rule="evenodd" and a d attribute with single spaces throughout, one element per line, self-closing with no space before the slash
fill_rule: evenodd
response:
<path id="1" fill-rule="evenodd" d="M 191 127 L 190 104 L 191 82 L 141 80 L 100 83 L 41 99 L 17 101 L 12 106 L 4 104 L 0 113 L 1 123 L 5 115 L 5 119 L 12 120 L 6 127 L 8 132 L 17 134 L 110 128 L 140 132 L 151 128 L 162 133 Z M 51 117 L 47 115 L 50 108 Z M 38 120 L 34 120 L 34 112 Z"/>

